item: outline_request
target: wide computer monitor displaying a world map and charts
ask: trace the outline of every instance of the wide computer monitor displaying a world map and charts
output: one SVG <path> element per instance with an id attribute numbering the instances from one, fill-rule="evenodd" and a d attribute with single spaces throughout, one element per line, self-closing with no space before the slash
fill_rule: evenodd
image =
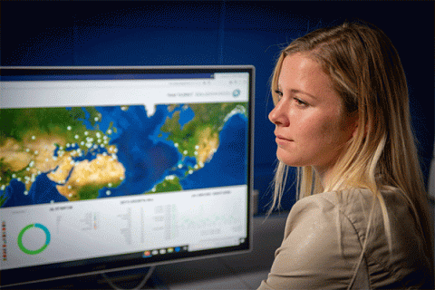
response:
<path id="1" fill-rule="evenodd" d="M 0 284 L 249 251 L 254 73 L 2 67 Z"/>

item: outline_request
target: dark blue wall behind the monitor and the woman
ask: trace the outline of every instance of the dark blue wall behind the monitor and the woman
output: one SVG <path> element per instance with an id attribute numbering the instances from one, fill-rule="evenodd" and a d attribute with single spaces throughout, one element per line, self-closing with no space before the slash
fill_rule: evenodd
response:
<path id="1" fill-rule="evenodd" d="M 2 2 L 1 64 L 256 66 L 255 189 L 266 211 L 275 167 L 269 78 L 280 48 L 324 25 L 360 18 L 396 45 L 429 170 L 434 140 L 434 4 L 391 2 Z M 292 190 L 283 208 L 294 200 Z"/>

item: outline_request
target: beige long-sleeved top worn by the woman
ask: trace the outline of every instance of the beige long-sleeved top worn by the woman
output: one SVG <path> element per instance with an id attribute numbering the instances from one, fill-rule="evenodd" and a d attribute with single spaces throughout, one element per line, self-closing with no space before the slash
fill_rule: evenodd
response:
<path id="1" fill-rule="evenodd" d="M 382 191 L 382 196 L 391 222 L 392 255 L 376 203 L 366 252 L 350 289 L 433 289 L 431 261 L 424 254 L 411 209 L 398 192 Z M 325 192 L 297 201 L 270 274 L 258 289 L 348 289 L 371 207 L 372 193 L 367 189 L 340 196 Z"/>

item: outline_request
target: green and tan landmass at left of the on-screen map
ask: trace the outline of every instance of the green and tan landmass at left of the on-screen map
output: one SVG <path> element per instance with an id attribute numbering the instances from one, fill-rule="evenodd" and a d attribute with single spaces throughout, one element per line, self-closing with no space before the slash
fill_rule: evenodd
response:
<path id="1" fill-rule="evenodd" d="M 24 183 L 27 195 L 41 173 L 48 173 L 68 200 L 93 197 L 95 193 L 90 195 L 87 190 L 92 187 L 116 187 L 125 174 L 116 160 L 116 147 L 109 145 L 116 128 L 111 124 L 107 131 L 101 131 L 101 119 L 101 113 L 93 107 L 1 109 L 0 123 L 10 125 L 0 128 L 0 190 L 4 193 L 0 207 L 12 179 Z M 80 179 L 92 167 L 100 167 L 100 179 Z M 109 175 L 107 169 L 112 170 Z"/>

